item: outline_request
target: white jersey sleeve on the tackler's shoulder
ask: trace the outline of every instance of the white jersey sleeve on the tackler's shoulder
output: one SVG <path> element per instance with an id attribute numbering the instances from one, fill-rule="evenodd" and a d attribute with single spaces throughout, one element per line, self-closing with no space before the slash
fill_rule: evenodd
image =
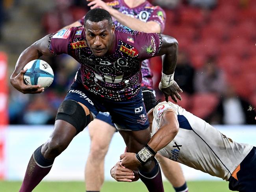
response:
<path id="1" fill-rule="evenodd" d="M 163 114 L 167 111 L 173 111 L 176 115 L 178 114 L 177 109 L 170 102 L 162 102 L 162 104 L 156 106 L 156 108 L 154 109 L 154 115 L 156 117 L 158 124 L 160 123 Z"/>

